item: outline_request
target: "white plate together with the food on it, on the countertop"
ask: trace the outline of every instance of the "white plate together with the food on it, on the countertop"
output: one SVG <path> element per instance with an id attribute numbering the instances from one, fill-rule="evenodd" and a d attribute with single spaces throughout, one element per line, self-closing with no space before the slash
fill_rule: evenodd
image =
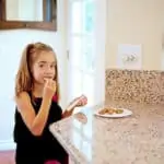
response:
<path id="1" fill-rule="evenodd" d="M 132 115 L 132 112 L 126 108 L 104 107 L 98 109 L 95 115 L 108 118 L 119 118 Z"/>

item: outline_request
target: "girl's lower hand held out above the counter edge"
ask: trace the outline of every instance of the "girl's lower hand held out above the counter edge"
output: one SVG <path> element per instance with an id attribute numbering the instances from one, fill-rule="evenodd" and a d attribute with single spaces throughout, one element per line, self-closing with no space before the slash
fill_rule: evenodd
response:
<path id="1" fill-rule="evenodd" d="M 81 107 L 85 106 L 87 104 L 87 97 L 85 95 L 81 95 L 80 97 L 77 97 L 73 102 L 72 105 L 74 107 Z"/>

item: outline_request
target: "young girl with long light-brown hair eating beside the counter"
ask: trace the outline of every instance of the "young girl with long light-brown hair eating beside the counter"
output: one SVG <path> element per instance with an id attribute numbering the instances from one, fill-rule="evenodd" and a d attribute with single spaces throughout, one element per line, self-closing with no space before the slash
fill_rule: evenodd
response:
<path id="1" fill-rule="evenodd" d="M 15 82 L 16 164 L 45 164 L 58 161 L 67 164 L 67 152 L 49 131 L 49 125 L 69 117 L 85 96 L 75 98 L 62 113 L 57 58 L 51 47 L 42 44 L 26 46 Z"/>

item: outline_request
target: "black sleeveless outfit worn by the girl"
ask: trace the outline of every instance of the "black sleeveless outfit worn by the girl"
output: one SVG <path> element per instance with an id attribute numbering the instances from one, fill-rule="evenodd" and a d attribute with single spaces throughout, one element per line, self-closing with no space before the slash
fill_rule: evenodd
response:
<path id="1" fill-rule="evenodd" d="M 32 103 L 32 105 L 37 114 L 42 105 L 42 98 L 35 98 L 35 103 Z M 43 134 L 36 137 L 24 124 L 17 108 L 15 109 L 14 142 L 16 143 L 16 164 L 25 164 L 25 162 L 43 164 L 47 160 L 58 160 L 60 162 L 67 156 L 63 148 L 49 131 L 49 125 L 60 120 L 61 117 L 61 107 L 52 101 Z"/>

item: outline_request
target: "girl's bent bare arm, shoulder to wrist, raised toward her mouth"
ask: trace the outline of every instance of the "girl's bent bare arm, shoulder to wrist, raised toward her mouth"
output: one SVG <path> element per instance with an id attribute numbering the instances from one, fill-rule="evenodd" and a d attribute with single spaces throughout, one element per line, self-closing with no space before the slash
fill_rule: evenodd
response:
<path id="1" fill-rule="evenodd" d="M 36 115 L 31 103 L 31 97 L 26 92 L 22 92 L 16 98 L 17 109 L 25 125 L 34 136 L 40 136 L 43 133 L 48 118 L 50 104 L 50 99 L 46 97 L 43 98 L 39 112 Z"/>

